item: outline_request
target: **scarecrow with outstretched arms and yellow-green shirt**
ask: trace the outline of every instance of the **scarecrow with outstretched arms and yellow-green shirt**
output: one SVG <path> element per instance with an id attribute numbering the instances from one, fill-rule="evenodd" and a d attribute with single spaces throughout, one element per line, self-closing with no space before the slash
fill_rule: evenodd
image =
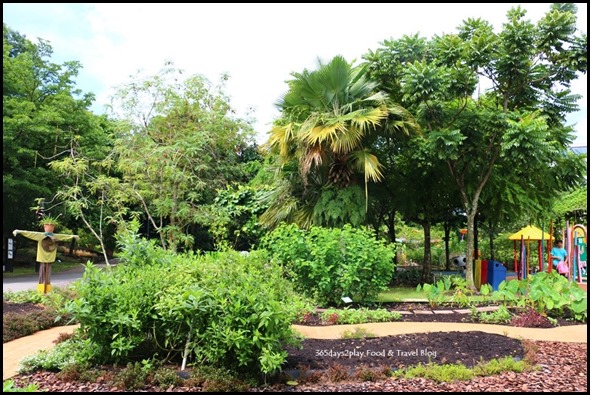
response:
<path id="1" fill-rule="evenodd" d="M 39 284 L 37 291 L 47 293 L 51 291 L 51 264 L 57 256 L 57 242 L 79 239 L 77 235 L 65 235 L 53 233 L 54 226 L 45 226 L 45 232 L 32 232 L 29 230 L 18 230 L 12 232 L 14 236 L 21 234 L 28 239 L 37 242 L 37 262 L 39 266 Z"/>

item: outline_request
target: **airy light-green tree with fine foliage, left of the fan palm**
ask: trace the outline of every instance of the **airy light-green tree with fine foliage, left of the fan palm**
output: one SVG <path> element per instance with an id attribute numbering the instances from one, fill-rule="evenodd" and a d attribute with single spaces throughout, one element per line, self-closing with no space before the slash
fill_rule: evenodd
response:
<path id="1" fill-rule="evenodd" d="M 190 227 L 207 223 L 217 189 L 244 177 L 252 143 L 249 121 L 233 114 L 221 85 L 185 78 L 170 65 L 121 87 L 113 110 L 123 186 L 141 207 L 163 248 L 191 246 Z"/>

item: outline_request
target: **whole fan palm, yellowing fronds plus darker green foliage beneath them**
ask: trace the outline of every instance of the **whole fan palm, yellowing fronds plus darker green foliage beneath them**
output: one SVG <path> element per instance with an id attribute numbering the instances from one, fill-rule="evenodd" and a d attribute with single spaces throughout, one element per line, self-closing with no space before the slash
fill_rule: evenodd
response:
<path id="1" fill-rule="evenodd" d="M 369 182 L 383 178 L 371 147 L 375 135 L 413 133 L 418 127 L 376 89 L 365 69 L 341 56 L 292 76 L 277 104 L 281 118 L 269 137 L 282 166 L 282 181 L 262 218 L 269 223 L 290 218 L 302 225 L 332 226 L 361 219 L 358 187 L 364 188 L 366 212 Z"/>

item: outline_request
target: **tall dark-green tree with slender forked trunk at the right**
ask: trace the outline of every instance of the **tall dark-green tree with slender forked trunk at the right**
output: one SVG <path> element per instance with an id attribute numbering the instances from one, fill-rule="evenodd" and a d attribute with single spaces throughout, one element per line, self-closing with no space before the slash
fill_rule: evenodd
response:
<path id="1" fill-rule="evenodd" d="M 375 78 L 396 78 L 402 105 L 419 114 L 432 151 L 457 185 L 467 214 L 470 284 L 474 222 L 492 175 L 507 175 L 508 186 L 494 192 L 522 191 L 530 207 L 582 180 L 583 162 L 568 154 L 572 130 L 565 115 L 577 108 L 569 85 L 586 72 L 586 36 L 576 32 L 575 5 L 555 4 L 537 24 L 525 14 L 510 10 L 499 33 L 468 19 L 458 34 L 385 42 L 367 55 Z M 401 56 L 422 49 L 414 60 Z M 486 81 L 491 88 L 476 92 Z"/>

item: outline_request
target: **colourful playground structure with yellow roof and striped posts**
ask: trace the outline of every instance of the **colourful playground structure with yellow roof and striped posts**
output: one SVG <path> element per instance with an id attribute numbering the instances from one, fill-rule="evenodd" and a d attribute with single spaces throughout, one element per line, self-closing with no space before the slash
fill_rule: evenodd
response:
<path id="1" fill-rule="evenodd" d="M 518 279 L 526 279 L 530 274 L 545 271 L 551 273 L 553 265 L 550 259 L 551 246 L 553 245 L 553 223 L 551 223 L 549 233 L 535 226 L 527 226 L 515 234 L 509 236 L 514 241 L 514 271 Z M 569 273 L 567 277 L 570 281 L 576 281 L 578 284 L 586 284 L 586 247 L 587 247 L 587 228 L 584 225 L 570 226 L 566 222 L 566 228 L 561 231 L 561 239 L 567 252 L 567 264 Z M 520 240 L 520 244 L 518 241 Z M 537 242 L 537 246 L 531 248 L 531 242 Z M 532 261 L 532 250 L 537 250 L 539 259 L 538 266 Z M 544 259 L 545 253 L 547 260 Z"/>

